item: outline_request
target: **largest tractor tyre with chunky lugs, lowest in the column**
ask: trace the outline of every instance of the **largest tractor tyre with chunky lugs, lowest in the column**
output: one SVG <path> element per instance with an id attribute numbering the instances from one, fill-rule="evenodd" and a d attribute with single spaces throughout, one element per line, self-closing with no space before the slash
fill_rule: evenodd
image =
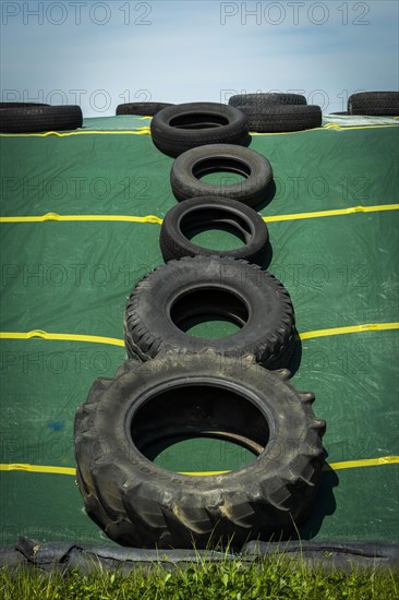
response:
<path id="1" fill-rule="evenodd" d="M 239 361 L 226 359 L 221 369 L 211 351 L 166 353 L 142 374 L 144 367 L 128 369 L 106 391 L 94 386 L 75 416 L 77 483 L 88 516 L 107 536 L 138 548 L 205 548 L 210 536 L 214 544 L 232 538 L 241 547 L 255 538 L 283 539 L 304 523 L 317 492 L 325 431 L 306 395 L 255 363 L 240 370 Z M 275 437 L 254 463 L 227 475 L 158 468 L 126 439 L 126 413 L 149 385 L 177 376 L 189 385 L 203 375 L 250 388 L 271 412 Z"/>

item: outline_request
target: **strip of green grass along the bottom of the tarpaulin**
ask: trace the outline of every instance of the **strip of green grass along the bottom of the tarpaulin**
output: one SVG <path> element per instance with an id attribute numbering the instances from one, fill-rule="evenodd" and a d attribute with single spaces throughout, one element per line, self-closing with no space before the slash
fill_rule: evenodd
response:
<path id="1" fill-rule="evenodd" d="M 240 560 L 198 563 L 168 571 L 160 564 L 135 568 L 129 575 L 98 571 L 50 575 L 38 571 L 0 571 L 0 597 L 4 600 L 395 600 L 399 572 L 342 573 L 307 567 L 278 556 L 244 566 Z"/>

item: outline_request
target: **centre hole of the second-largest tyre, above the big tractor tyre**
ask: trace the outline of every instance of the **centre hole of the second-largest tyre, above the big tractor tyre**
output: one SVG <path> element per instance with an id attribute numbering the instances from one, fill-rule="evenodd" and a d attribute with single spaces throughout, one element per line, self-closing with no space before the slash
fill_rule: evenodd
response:
<path id="1" fill-rule="evenodd" d="M 249 320 L 244 302 L 222 288 L 198 288 L 182 293 L 172 303 L 172 323 L 180 331 L 206 339 L 228 337 Z"/>

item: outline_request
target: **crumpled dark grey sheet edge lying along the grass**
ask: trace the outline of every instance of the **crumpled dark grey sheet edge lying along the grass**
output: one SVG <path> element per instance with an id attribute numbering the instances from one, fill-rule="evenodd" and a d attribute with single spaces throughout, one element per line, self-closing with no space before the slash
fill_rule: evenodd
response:
<path id="1" fill-rule="evenodd" d="M 121 548 L 119 545 L 76 544 L 66 542 L 44 542 L 19 537 L 15 544 L 0 547 L 0 567 L 9 571 L 33 569 L 37 573 L 80 573 L 82 575 L 98 575 L 98 569 L 118 572 L 118 575 L 129 575 L 135 568 L 159 568 L 167 571 L 190 568 L 201 561 L 211 563 L 239 560 L 242 567 L 266 556 L 279 554 L 281 560 L 289 561 L 292 566 L 324 568 L 339 572 L 397 569 L 399 565 L 399 545 L 375 542 L 335 542 L 335 541 L 283 541 L 259 542 L 250 541 L 240 553 L 217 550 L 177 549 L 143 550 L 141 548 Z"/>

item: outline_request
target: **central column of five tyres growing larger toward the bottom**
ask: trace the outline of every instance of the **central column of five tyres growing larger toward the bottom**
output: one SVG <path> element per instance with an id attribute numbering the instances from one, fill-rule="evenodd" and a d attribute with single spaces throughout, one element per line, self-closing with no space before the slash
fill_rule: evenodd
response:
<path id="1" fill-rule="evenodd" d="M 234 107 L 166 107 L 154 144 L 177 159 L 179 204 L 160 232 L 165 265 L 132 290 L 124 314 L 129 360 L 97 380 L 76 412 L 77 482 L 87 514 L 112 540 L 142 548 L 196 548 L 288 538 L 310 516 L 323 468 L 325 422 L 312 393 L 288 383 L 294 311 L 262 266 L 268 231 L 252 208 L 273 180 L 268 160 L 244 147 L 247 121 Z M 210 185 L 205 173 L 242 175 Z M 228 227 L 242 247 L 209 250 L 190 231 Z M 190 335 L 193 321 L 222 316 L 239 331 Z M 193 477 L 156 466 L 152 451 L 181 437 L 215 437 L 256 458 L 232 471 Z M 289 447 L 292 444 L 293 447 Z"/>

